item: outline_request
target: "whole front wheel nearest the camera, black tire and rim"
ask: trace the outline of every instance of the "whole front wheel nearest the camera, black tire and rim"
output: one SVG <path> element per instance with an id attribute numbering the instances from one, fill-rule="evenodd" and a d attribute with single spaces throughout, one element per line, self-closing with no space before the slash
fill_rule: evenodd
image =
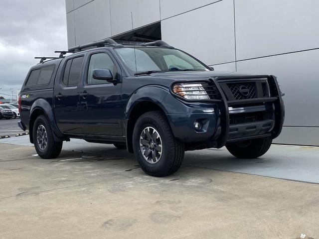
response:
<path id="1" fill-rule="evenodd" d="M 156 177 L 178 170 L 184 158 L 184 144 L 174 137 L 169 123 L 160 111 L 143 114 L 133 131 L 133 148 L 142 170 Z"/>

